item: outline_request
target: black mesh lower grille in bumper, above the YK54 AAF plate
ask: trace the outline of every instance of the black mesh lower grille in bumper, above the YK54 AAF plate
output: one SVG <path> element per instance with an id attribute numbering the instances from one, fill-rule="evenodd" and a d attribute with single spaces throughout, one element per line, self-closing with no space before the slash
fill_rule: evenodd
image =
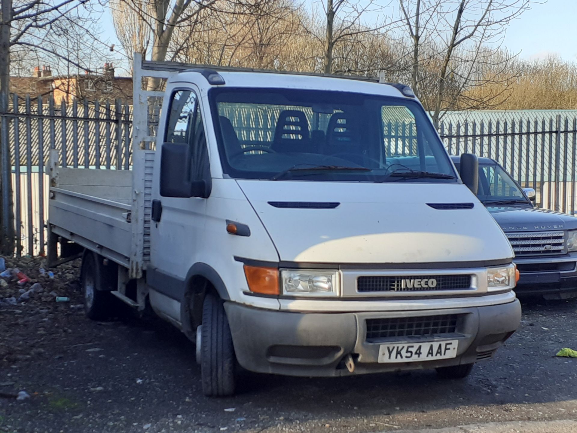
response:
<path id="1" fill-rule="evenodd" d="M 457 327 L 457 314 L 440 316 L 366 319 L 366 341 L 377 342 L 392 337 L 426 337 L 453 334 Z"/>

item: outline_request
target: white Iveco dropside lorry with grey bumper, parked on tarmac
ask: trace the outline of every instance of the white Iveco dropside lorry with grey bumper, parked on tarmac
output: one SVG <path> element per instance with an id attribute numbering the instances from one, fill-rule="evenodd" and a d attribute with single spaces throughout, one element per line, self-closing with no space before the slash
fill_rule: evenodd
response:
<path id="1" fill-rule="evenodd" d="M 132 170 L 53 152 L 49 259 L 82 255 L 90 318 L 119 299 L 181 329 L 207 395 L 240 368 L 460 378 L 519 326 L 476 157 L 455 170 L 406 86 L 136 55 L 132 144 Z"/>

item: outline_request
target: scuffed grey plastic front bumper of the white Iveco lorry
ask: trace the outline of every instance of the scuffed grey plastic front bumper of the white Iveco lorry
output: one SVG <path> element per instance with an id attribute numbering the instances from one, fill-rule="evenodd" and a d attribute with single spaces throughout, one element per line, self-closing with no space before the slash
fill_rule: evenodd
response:
<path id="1" fill-rule="evenodd" d="M 237 303 L 224 304 L 239 364 L 249 371 L 288 376 L 346 376 L 447 367 L 489 359 L 518 328 L 518 300 L 486 307 L 429 311 L 299 313 L 271 311 Z M 459 315 L 455 333 L 434 337 L 394 337 L 366 341 L 366 319 Z M 381 344 L 458 339 L 454 359 L 380 364 Z M 353 373 L 344 365 L 351 354 Z"/>

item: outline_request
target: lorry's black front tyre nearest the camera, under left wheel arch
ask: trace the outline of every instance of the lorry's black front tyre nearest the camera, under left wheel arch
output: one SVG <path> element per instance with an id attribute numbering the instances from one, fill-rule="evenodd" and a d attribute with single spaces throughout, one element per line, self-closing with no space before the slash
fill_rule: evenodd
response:
<path id="1" fill-rule="evenodd" d="M 233 337 L 222 301 L 207 294 L 203 303 L 200 368 L 204 395 L 233 395 L 236 385 Z"/>

